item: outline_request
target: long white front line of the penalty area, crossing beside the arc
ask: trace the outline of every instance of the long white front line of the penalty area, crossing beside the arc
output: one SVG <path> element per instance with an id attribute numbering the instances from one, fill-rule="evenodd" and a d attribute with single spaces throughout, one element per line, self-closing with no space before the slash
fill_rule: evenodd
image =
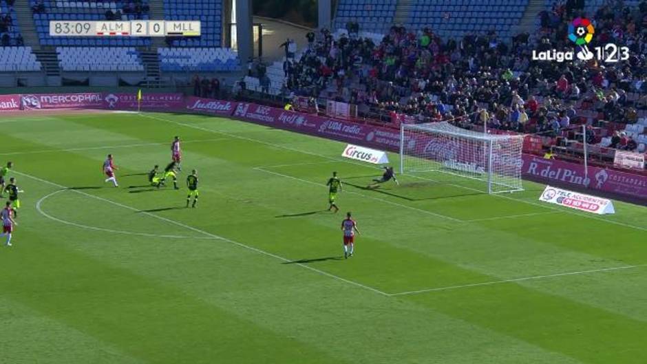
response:
<path id="1" fill-rule="evenodd" d="M 26 173 L 21 173 L 21 172 L 14 172 L 14 173 L 17 173 L 17 174 L 19 174 L 19 175 L 23 175 L 23 176 L 24 176 L 24 177 L 26 177 L 26 178 L 30 178 L 30 179 L 32 179 L 32 180 L 39 181 L 39 182 L 42 182 L 42 183 L 44 183 L 44 184 L 50 184 L 51 186 L 56 186 L 56 187 L 58 187 L 59 189 L 69 189 L 69 187 L 67 187 L 67 186 L 63 186 L 62 184 L 58 184 L 58 183 L 56 183 L 56 182 L 52 182 L 52 181 L 48 181 L 48 180 L 43 180 L 42 178 L 38 178 L 38 177 L 35 177 L 35 176 L 33 176 L 33 175 L 28 175 L 28 174 L 26 174 Z M 190 226 L 190 225 L 187 225 L 187 224 L 182 224 L 181 222 L 177 222 L 177 221 L 175 221 L 175 220 L 167 219 L 166 217 L 162 217 L 162 216 L 160 216 L 160 215 L 155 215 L 155 214 L 153 214 L 153 213 L 148 213 L 148 212 L 145 212 L 145 211 L 140 211 L 140 210 L 138 210 L 137 208 L 134 208 L 134 207 L 131 207 L 131 206 L 127 206 L 127 205 L 125 205 L 125 204 L 120 204 L 119 202 L 115 202 L 115 201 L 112 201 L 112 200 L 108 200 L 107 198 L 99 197 L 99 196 L 96 196 L 96 195 L 92 195 L 92 194 L 90 194 L 90 193 L 85 193 L 85 192 L 83 192 L 83 191 L 78 191 L 78 190 L 74 190 L 74 189 L 70 189 L 70 191 L 74 191 L 75 193 L 78 193 L 78 194 L 84 195 L 84 196 L 86 196 L 86 197 L 91 197 L 91 198 L 94 198 L 94 199 L 96 199 L 96 200 L 100 200 L 100 201 L 103 201 L 103 202 L 107 202 L 107 203 L 109 203 L 109 204 L 114 204 L 115 206 L 119 206 L 119 207 L 125 208 L 125 209 L 130 210 L 130 211 L 136 211 L 136 212 L 138 212 L 138 213 L 142 213 L 142 214 L 144 214 L 144 215 L 147 215 L 147 216 L 153 217 L 153 218 L 155 218 L 155 219 L 162 220 L 162 221 L 164 221 L 164 222 L 168 222 L 169 224 L 173 224 L 173 225 L 176 225 L 176 226 L 180 226 L 180 227 L 182 227 L 182 228 L 186 228 L 186 229 L 191 230 L 191 231 L 195 231 L 195 233 L 200 233 L 200 234 L 202 234 L 202 235 L 205 235 L 205 236 L 208 236 L 208 237 L 212 237 L 212 238 L 214 238 L 214 239 L 219 239 L 219 240 L 222 240 L 223 242 L 228 242 L 228 243 L 233 244 L 233 245 L 235 245 L 235 246 L 240 246 L 241 248 L 245 248 L 245 249 L 247 249 L 247 250 L 251 250 L 251 251 L 253 251 L 253 252 L 255 252 L 255 253 L 259 253 L 259 254 L 262 254 L 262 255 L 266 255 L 266 256 L 268 256 L 268 257 L 273 257 L 273 258 L 278 259 L 278 260 L 280 260 L 280 261 L 289 262 L 289 263 L 292 263 L 292 262 L 293 262 L 293 261 L 292 261 L 292 260 L 290 260 L 290 259 L 287 259 L 287 258 L 281 257 L 281 256 L 279 256 L 279 255 L 275 255 L 275 254 L 273 254 L 273 253 L 266 252 L 265 250 L 261 250 L 261 249 L 259 249 L 259 248 L 254 248 L 253 246 L 248 246 L 248 245 L 246 245 L 246 244 L 242 244 L 242 243 L 240 243 L 240 242 L 236 242 L 235 240 L 228 239 L 228 238 L 226 238 L 226 237 L 222 237 L 222 236 L 220 236 L 220 235 L 215 235 L 215 234 L 209 233 L 209 232 L 207 232 L 207 231 L 200 230 L 199 228 L 194 228 L 193 226 Z M 306 264 L 301 264 L 301 263 L 294 263 L 294 264 L 295 264 L 295 265 L 297 265 L 297 266 L 300 266 L 301 268 L 305 268 L 305 269 L 310 270 L 310 271 L 312 271 L 312 272 L 316 272 L 316 273 L 318 273 L 319 275 L 324 275 L 324 276 L 326 276 L 326 277 L 330 277 L 330 278 L 332 278 L 332 279 L 336 279 L 337 281 L 342 281 L 342 282 L 344 282 L 344 283 L 351 284 L 352 286 L 357 286 L 357 287 L 359 287 L 359 288 L 363 288 L 363 289 L 365 289 L 365 290 L 370 290 L 370 291 L 375 292 L 375 293 L 378 293 L 379 295 L 382 295 L 382 296 L 388 296 L 388 293 L 386 293 L 386 292 L 383 292 L 383 291 L 381 291 L 381 290 L 377 290 L 376 288 L 372 288 L 372 287 L 370 287 L 370 286 L 365 286 L 365 285 L 363 285 L 363 284 L 361 284 L 361 283 L 358 283 L 358 282 L 356 282 L 356 281 L 351 281 L 350 279 L 346 279 L 346 278 L 339 277 L 339 276 L 337 276 L 337 275 L 333 275 L 332 273 L 325 272 L 324 270 L 319 270 L 319 269 L 317 269 L 317 268 L 312 268 L 311 266 L 307 266 Z"/>

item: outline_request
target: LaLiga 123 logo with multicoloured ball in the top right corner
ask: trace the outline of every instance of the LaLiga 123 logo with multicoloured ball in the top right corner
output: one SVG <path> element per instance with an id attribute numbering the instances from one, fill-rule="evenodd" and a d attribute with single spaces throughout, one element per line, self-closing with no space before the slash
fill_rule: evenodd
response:
<path id="1" fill-rule="evenodd" d="M 604 47 L 594 47 L 593 51 L 588 49 L 588 43 L 593 40 L 595 27 L 590 20 L 586 18 L 575 18 L 569 24 L 569 40 L 575 43 L 577 55 L 574 51 L 562 52 L 559 50 L 547 50 L 537 52 L 533 50 L 533 61 L 573 61 L 575 56 L 580 61 L 591 61 L 596 59 L 604 63 L 617 63 L 629 59 L 629 48 L 619 46 L 615 43 L 607 43 Z"/>

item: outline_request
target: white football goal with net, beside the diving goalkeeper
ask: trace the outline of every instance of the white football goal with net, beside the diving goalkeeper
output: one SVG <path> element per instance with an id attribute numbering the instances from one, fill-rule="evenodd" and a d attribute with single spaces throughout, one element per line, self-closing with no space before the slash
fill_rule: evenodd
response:
<path id="1" fill-rule="evenodd" d="M 449 173 L 487 193 L 523 191 L 521 135 L 492 135 L 449 122 L 400 127 L 400 173 Z M 474 185 L 474 184 L 472 184 Z"/>

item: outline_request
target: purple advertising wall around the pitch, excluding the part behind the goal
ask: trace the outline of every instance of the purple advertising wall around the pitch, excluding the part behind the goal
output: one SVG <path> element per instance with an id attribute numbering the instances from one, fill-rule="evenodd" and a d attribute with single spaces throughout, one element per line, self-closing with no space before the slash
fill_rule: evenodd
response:
<path id="1" fill-rule="evenodd" d="M 0 113 L 3 111 L 29 113 L 52 109 L 133 111 L 137 110 L 138 106 L 144 111 L 171 111 L 232 117 L 320 138 L 393 152 L 399 151 L 399 132 L 391 128 L 301 114 L 253 103 L 237 103 L 173 93 L 145 94 L 142 97 L 141 105 L 138 105 L 135 94 L 123 93 L 0 95 Z M 413 149 L 417 143 L 418 140 L 415 139 L 407 140 L 406 148 Z M 542 183 L 614 195 L 632 202 L 647 204 L 647 176 L 644 175 L 601 167 L 588 167 L 589 178 L 587 179 L 582 164 L 562 160 L 546 160 L 525 153 L 522 157 L 522 173 L 524 178 Z"/>

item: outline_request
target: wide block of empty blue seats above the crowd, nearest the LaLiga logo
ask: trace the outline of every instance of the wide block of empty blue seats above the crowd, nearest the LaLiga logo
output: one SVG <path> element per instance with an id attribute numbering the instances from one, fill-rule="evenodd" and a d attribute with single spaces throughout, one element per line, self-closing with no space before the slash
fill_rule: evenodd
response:
<path id="1" fill-rule="evenodd" d="M 447 38 L 491 31 L 508 38 L 527 5 L 527 0 L 416 0 L 409 14 L 410 23 L 405 26 L 413 30 L 433 28 Z"/>

